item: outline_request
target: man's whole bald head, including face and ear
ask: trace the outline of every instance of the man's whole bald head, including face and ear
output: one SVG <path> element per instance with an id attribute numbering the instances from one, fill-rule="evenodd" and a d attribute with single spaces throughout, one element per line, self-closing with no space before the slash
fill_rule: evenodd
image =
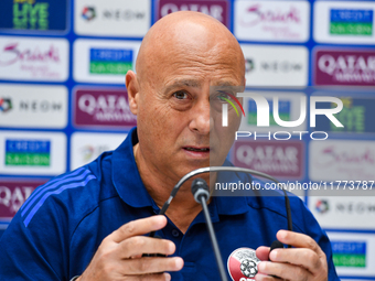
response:
<path id="1" fill-rule="evenodd" d="M 210 101 L 217 100 L 211 89 L 245 85 L 244 55 L 226 26 L 199 12 L 169 14 L 144 36 L 136 68 L 137 74 L 127 73 L 126 87 L 137 115 L 137 165 L 152 186 L 148 191 L 173 186 L 210 163 L 223 164 L 240 118 L 229 111 L 232 123 L 223 129 L 211 110 Z"/>

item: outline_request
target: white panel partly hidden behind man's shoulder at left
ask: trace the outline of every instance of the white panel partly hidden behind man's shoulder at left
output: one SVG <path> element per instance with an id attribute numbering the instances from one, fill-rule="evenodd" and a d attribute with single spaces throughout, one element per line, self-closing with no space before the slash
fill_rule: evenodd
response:
<path id="1" fill-rule="evenodd" d="M 126 137 L 127 133 L 73 133 L 71 141 L 71 170 L 73 171 L 94 161 L 103 152 L 117 149 Z"/>

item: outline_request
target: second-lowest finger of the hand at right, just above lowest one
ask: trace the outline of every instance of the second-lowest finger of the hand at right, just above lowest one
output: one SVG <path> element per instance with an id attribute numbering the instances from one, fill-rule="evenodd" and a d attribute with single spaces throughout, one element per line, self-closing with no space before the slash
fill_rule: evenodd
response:
<path id="1" fill-rule="evenodd" d="M 311 273 L 314 273 L 322 266 L 318 253 L 310 249 L 277 249 L 271 251 L 269 258 L 275 262 L 289 262 L 301 266 Z"/>

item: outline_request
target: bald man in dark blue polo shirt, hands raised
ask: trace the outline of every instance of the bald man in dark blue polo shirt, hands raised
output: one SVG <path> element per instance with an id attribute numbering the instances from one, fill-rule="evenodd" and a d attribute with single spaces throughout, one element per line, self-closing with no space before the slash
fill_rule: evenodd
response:
<path id="1" fill-rule="evenodd" d="M 217 129 L 210 87 L 244 86 L 244 55 L 218 21 L 178 12 L 150 29 L 136 69 L 126 75 L 126 87 L 137 129 L 116 151 L 30 196 L 1 238 L 2 279 L 219 280 L 191 181 L 167 217 L 154 214 L 184 174 L 210 162 L 223 164 L 233 143 L 226 136 L 236 128 L 227 129 L 232 134 Z M 225 261 L 238 248 L 269 246 L 277 236 L 296 248 L 269 256 L 268 247 L 259 247 L 264 261 L 256 280 L 336 280 L 329 240 L 297 197 L 291 207 L 298 233 L 278 231 L 287 224 L 282 204 L 267 197 L 213 197 L 208 207 Z M 153 230 L 161 239 L 146 236 Z"/>

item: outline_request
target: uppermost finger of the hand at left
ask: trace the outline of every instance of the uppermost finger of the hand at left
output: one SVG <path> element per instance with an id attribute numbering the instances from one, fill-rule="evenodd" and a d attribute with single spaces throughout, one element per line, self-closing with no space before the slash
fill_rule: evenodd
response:
<path id="1" fill-rule="evenodd" d="M 132 220 L 126 225 L 122 225 L 117 230 L 111 233 L 107 239 L 111 239 L 115 242 L 120 242 L 129 237 L 144 235 L 151 231 L 159 230 L 167 225 L 167 218 L 164 216 L 151 216 L 148 218 L 141 218 Z"/>

